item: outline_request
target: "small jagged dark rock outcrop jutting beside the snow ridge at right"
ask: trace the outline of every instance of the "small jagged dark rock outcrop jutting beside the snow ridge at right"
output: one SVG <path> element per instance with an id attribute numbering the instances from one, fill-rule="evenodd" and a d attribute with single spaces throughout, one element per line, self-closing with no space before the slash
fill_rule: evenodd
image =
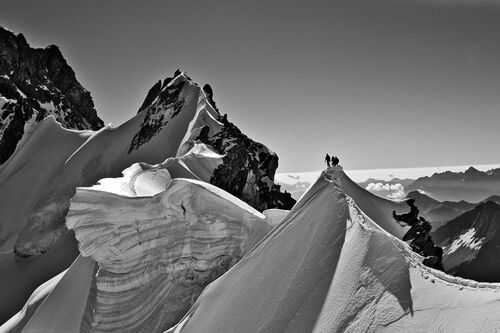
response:
<path id="1" fill-rule="evenodd" d="M 424 265 L 444 271 L 443 249 L 432 241 L 431 224 L 423 217 L 418 216 L 419 210 L 415 206 L 415 199 L 409 199 L 406 203 L 410 206 L 408 213 L 398 215 L 395 211 L 392 212 L 396 221 L 410 226 L 408 232 L 403 236 L 403 241 L 409 242 L 414 252 L 426 257 L 423 261 Z"/>

